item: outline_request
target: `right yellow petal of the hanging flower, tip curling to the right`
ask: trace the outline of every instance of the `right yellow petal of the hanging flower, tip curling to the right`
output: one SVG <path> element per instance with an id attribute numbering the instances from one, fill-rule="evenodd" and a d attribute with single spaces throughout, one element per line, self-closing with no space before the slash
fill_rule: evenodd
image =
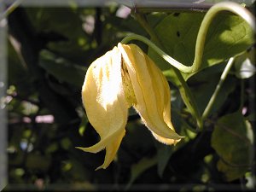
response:
<path id="1" fill-rule="evenodd" d="M 130 75 L 143 123 L 161 143 L 177 143 L 180 137 L 171 122 L 170 88 L 165 76 L 148 55 L 135 44 L 118 44 Z"/>

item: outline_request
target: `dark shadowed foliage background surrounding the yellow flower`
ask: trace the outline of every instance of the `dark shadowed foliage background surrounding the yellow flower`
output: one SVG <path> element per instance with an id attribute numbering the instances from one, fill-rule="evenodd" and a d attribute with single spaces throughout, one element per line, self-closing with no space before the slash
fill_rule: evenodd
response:
<path id="1" fill-rule="evenodd" d="M 118 156 L 108 169 L 95 171 L 102 165 L 104 151 L 90 154 L 75 148 L 98 141 L 81 103 L 80 91 L 87 67 L 130 32 L 148 37 L 131 15 L 125 18 L 125 11 L 127 9 L 118 6 L 19 7 L 9 15 L 6 97 L 9 185 L 3 191 L 255 189 L 253 143 L 242 144 L 251 140 L 224 137 L 212 144 L 213 130 L 222 130 L 220 135 L 228 135 L 229 128 L 236 131 L 234 119 L 239 119 L 241 124 L 247 122 L 238 129 L 250 127 L 249 137 L 255 139 L 254 76 L 239 79 L 235 67 L 201 132 L 196 132 L 195 119 L 186 110 L 177 84 L 169 79 L 172 122 L 177 132 L 185 136 L 177 146 L 157 143 L 141 124 L 139 116 L 131 111 Z M 146 17 L 154 27 L 167 15 L 178 14 L 149 13 Z M 196 18 L 201 21 L 203 15 Z M 156 32 L 159 32 L 157 28 Z M 177 33 L 178 37 L 180 35 L 183 33 Z M 148 51 L 144 44 L 135 43 Z M 248 44 L 239 50 L 247 49 Z M 205 107 L 224 69 L 223 63 L 218 63 L 187 81 L 200 108 Z M 241 107 L 243 115 L 237 112 Z M 227 117 L 226 114 L 232 115 Z M 222 117 L 224 119 L 219 121 Z M 231 123 L 224 124 L 226 121 Z M 222 129 L 222 123 L 228 129 Z M 218 132 L 214 134 L 217 141 Z M 243 136 L 243 132 L 239 134 Z M 235 166 L 233 159 L 228 159 L 230 161 L 224 163 L 225 171 L 221 172 L 218 164 L 222 157 L 216 152 L 219 149 L 216 146 L 231 150 L 226 147 L 229 143 L 222 143 L 224 141 L 235 143 L 232 154 L 241 155 Z"/>

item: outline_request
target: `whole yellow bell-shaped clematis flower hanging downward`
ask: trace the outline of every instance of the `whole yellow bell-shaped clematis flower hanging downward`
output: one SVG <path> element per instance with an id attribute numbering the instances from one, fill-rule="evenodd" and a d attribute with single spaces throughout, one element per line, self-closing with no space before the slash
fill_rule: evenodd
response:
<path id="1" fill-rule="evenodd" d="M 80 148 L 97 153 L 106 149 L 99 168 L 113 161 L 125 136 L 128 108 L 135 108 L 160 143 L 176 144 L 180 137 L 171 122 L 170 88 L 165 76 L 135 44 L 118 44 L 94 61 L 87 70 L 82 100 L 99 143 Z"/>

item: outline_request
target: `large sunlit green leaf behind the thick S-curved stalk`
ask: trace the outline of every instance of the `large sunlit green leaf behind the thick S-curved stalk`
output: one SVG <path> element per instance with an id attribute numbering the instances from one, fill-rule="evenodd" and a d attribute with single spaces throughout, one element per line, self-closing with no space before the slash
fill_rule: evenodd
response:
<path id="1" fill-rule="evenodd" d="M 169 15 L 154 28 L 166 53 L 184 65 L 191 66 L 194 61 L 195 41 L 203 16 L 201 13 Z M 253 32 L 244 20 L 236 15 L 218 15 L 207 32 L 201 69 L 238 55 L 252 44 Z M 148 54 L 161 70 L 168 70 L 173 83 L 177 82 L 166 61 L 156 55 L 153 49 L 148 49 Z M 185 79 L 191 75 L 183 73 Z"/>

